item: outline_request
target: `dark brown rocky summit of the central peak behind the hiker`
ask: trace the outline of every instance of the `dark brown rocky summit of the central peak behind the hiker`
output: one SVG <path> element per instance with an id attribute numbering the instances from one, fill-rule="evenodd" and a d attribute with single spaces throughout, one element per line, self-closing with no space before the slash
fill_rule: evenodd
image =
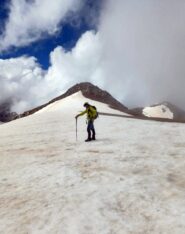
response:
<path id="1" fill-rule="evenodd" d="M 95 86 L 91 83 L 84 82 L 84 83 L 79 83 L 79 84 L 74 85 L 73 87 L 68 89 L 67 92 L 65 92 L 61 96 L 54 98 L 53 100 L 51 100 L 50 102 L 48 102 L 44 105 L 41 105 L 41 106 L 34 108 L 32 110 L 26 111 L 23 114 L 17 116 L 16 118 L 22 118 L 22 117 L 31 115 L 31 114 L 41 110 L 42 108 L 46 107 L 47 105 L 54 103 L 58 100 L 61 100 L 63 98 L 66 98 L 66 97 L 68 97 L 76 92 L 79 92 L 79 91 L 81 91 L 82 94 L 86 98 L 108 104 L 111 108 L 122 111 L 122 112 L 126 112 L 126 113 L 129 112 L 129 110 L 126 106 L 124 106 L 123 104 L 118 102 L 108 92 L 98 88 L 97 86 Z"/>

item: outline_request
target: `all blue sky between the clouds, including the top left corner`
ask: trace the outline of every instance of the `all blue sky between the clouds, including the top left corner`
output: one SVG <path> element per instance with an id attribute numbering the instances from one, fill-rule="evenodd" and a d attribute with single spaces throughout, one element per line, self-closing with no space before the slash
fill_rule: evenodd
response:
<path id="1" fill-rule="evenodd" d="M 9 15 L 10 0 L 0 0 L 0 33 L 4 32 L 4 27 Z M 44 35 L 39 40 L 26 46 L 11 46 L 1 52 L 0 59 L 16 58 L 22 55 L 34 56 L 43 69 L 49 67 L 49 54 L 55 47 L 61 45 L 66 51 L 71 50 L 81 35 L 89 30 L 96 30 L 96 23 L 91 22 L 89 14 L 94 14 L 98 19 L 100 14 L 101 0 L 84 0 L 82 8 L 75 13 L 74 19 L 60 22 L 59 31 L 54 35 Z M 39 18 L 38 18 L 39 20 Z"/>

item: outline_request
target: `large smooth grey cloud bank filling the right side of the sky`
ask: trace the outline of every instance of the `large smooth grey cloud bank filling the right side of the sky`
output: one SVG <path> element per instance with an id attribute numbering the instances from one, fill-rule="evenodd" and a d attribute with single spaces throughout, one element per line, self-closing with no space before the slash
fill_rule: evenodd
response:
<path id="1" fill-rule="evenodd" d="M 106 1 L 102 69 L 107 89 L 127 105 L 167 100 L 185 108 L 184 12 L 183 0 Z"/>

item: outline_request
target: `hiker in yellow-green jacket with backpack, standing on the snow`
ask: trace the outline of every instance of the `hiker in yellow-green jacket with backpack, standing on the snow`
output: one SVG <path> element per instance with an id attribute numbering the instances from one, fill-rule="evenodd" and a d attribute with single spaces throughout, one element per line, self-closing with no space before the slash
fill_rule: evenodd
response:
<path id="1" fill-rule="evenodd" d="M 88 137 L 85 141 L 88 142 L 91 140 L 96 140 L 96 138 L 95 138 L 96 133 L 95 133 L 95 129 L 94 129 L 94 120 L 97 118 L 97 111 L 96 111 L 96 107 L 91 106 L 88 102 L 84 103 L 84 107 L 86 108 L 86 110 L 81 112 L 80 114 L 76 115 L 75 118 L 77 119 L 79 116 L 87 114 Z"/>

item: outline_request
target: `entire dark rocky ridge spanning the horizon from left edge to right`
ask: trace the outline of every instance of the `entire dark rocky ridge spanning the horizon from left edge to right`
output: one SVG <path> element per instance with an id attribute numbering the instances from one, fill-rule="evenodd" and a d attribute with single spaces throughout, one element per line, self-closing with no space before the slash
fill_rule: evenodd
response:
<path id="1" fill-rule="evenodd" d="M 0 121 L 2 122 L 9 122 L 18 118 L 23 118 L 26 116 L 29 116 L 31 114 L 34 114 L 35 112 L 45 108 L 46 106 L 59 101 L 61 99 L 64 99 L 74 93 L 77 93 L 81 91 L 82 95 L 88 99 L 98 101 L 101 103 L 107 104 L 110 108 L 121 111 L 123 113 L 127 113 L 131 118 L 137 118 L 137 119 L 143 119 L 143 120 L 155 120 L 155 121 L 162 121 L 162 122 L 185 122 L 185 111 L 180 109 L 179 107 L 169 103 L 169 102 L 162 102 L 158 104 L 151 105 L 149 107 L 157 107 L 164 105 L 167 107 L 172 113 L 173 118 L 168 118 L 166 116 L 163 116 L 163 112 L 161 111 L 161 115 L 159 116 L 147 116 L 144 113 L 144 109 L 147 107 L 137 107 L 134 109 L 128 109 L 126 106 L 124 106 L 122 103 L 120 103 L 118 100 L 116 100 L 110 93 L 108 93 L 105 90 L 102 90 L 98 86 L 95 86 L 89 82 L 82 82 L 77 83 L 76 85 L 69 88 L 65 93 L 62 95 L 52 99 L 51 101 L 40 105 L 38 107 L 35 107 L 33 109 L 27 110 L 21 114 L 17 114 L 15 112 L 10 112 L 10 103 L 4 103 L 0 105 Z"/>

